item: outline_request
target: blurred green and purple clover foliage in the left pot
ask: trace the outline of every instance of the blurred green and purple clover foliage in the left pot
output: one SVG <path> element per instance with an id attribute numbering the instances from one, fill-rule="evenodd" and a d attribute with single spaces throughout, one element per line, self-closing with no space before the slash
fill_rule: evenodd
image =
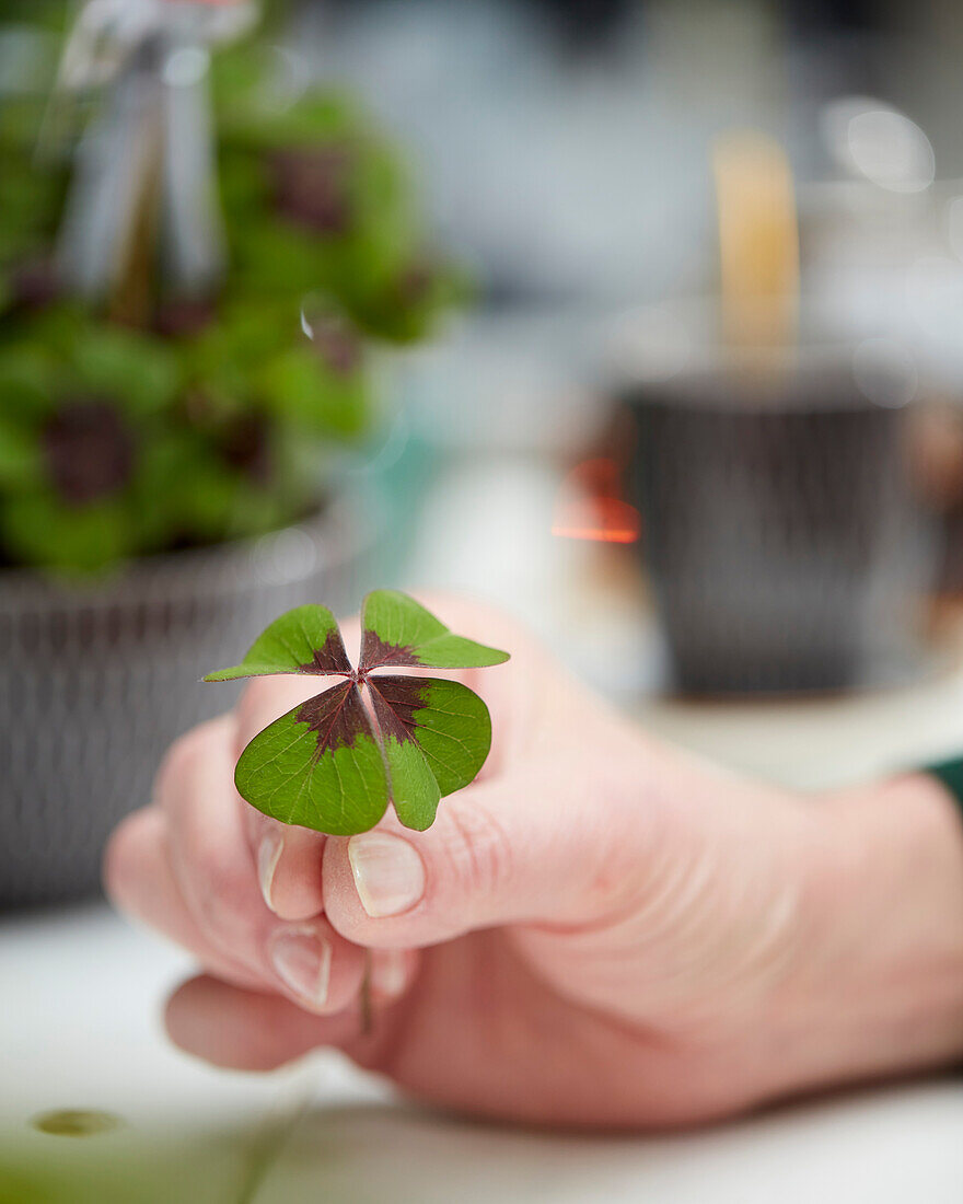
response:
<path id="1" fill-rule="evenodd" d="M 63 12 L 18 18 L 55 52 Z M 256 36 L 214 57 L 226 272 L 207 297 L 152 282 L 136 323 L 55 278 L 70 163 L 36 153 L 51 78 L 0 105 L 0 563 L 95 572 L 299 519 L 377 421 L 373 347 L 424 337 L 462 291 L 394 149 L 339 94 L 279 93 L 276 67 Z M 73 479 L 71 449 L 113 468 Z"/>

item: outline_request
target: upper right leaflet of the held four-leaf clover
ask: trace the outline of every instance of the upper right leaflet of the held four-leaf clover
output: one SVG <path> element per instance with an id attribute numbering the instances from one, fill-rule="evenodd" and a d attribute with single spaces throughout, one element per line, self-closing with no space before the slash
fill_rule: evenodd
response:
<path id="1" fill-rule="evenodd" d="M 361 609 L 361 671 L 382 666 L 436 669 L 502 665 L 508 653 L 454 636 L 423 606 L 397 590 L 374 590 Z"/>

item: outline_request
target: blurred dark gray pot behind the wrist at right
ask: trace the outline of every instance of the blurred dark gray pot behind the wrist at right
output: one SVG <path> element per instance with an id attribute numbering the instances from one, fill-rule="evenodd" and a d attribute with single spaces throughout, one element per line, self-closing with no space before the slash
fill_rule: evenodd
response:
<path id="1" fill-rule="evenodd" d="M 703 373 L 627 396 L 673 685 L 792 694 L 912 675 L 932 541 L 908 409 L 870 401 L 845 360 L 755 388 Z"/>

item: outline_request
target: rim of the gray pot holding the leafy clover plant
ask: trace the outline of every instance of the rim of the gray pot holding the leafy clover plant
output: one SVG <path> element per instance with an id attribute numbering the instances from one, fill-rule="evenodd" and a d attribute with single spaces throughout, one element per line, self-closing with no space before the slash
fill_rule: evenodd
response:
<path id="1" fill-rule="evenodd" d="M 138 603 L 196 601 L 307 580 L 372 541 L 376 524 L 343 494 L 299 523 L 261 536 L 140 556 L 90 582 L 0 569 L 0 615 L 104 610 Z"/>

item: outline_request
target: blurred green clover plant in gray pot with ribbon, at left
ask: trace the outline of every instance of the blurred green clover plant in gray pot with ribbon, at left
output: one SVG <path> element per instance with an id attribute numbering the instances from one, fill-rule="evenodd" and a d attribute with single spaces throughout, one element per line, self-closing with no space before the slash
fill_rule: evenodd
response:
<path id="1" fill-rule="evenodd" d="M 196 0 L 141 7 L 79 85 L 77 26 L 59 83 L 0 92 L 0 905 L 94 886 L 211 712 L 197 663 L 351 596 L 338 459 L 377 426 L 379 347 L 456 291 L 344 96 L 294 95 L 256 37 L 212 47 Z M 16 31 L 51 69 L 63 10 Z"/>

